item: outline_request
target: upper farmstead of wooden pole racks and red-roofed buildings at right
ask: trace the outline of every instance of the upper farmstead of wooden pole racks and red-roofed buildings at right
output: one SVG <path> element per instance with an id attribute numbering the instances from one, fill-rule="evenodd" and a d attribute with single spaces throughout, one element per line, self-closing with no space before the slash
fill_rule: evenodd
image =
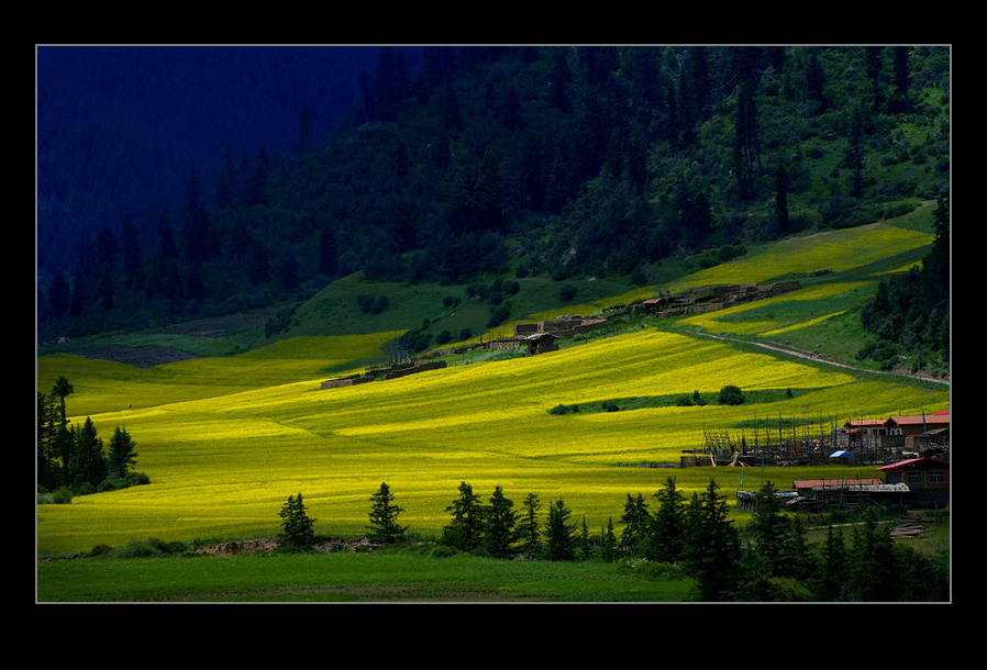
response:
<path id="1" fill-rule="evenodd" d="M 889 465 L 902 456 L 949 460 L 950 412 L 851 420 L 840 427 L 822 417 L 755 418 L 740 431 L 703 431 L 702 443 L 683 450 L 681 467 Z"/>

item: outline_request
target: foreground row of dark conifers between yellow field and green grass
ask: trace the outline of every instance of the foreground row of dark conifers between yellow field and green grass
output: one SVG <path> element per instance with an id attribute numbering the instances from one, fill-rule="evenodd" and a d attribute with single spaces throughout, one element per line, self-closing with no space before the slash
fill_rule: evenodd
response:
<path id="1" fill-rule="evenodd" d="M 850 538 L 839 526 L 828 526 L 823 541 L 810 544 L 805 523 L 786 514 L 774 484 L 757 494 L 751 522 L 741 532 L 729 520 L 725 496 L 710 480 L 691 499 L 668 477 L 654 494 L 656 506 L 641 493 L 628 494 L 618 534 L 608 520 L 599 534 L 590 533 L 586 517 L 573 520 L 563 500 L 553 501 L 542 515 L 536 493 L 529 493 L 520 510 L 501 487 L 485 503 L 470 484 L 462 482 L 458 496 L 446 507 L 450 523 L 437 544 L 451 551 L 501 559 L 603 560 L 640 558 L 677 565 L 695 581 L 701 601 L 922 601 L 950 598 L 946 550 L 929 555 L 896 544 L 873 509 L 853 527 Z M 400 543 L 408 526 L 398 523 L 403 511 L 386 483 L 370 498 L 369 538 Z M 281 510 L 282 537 L 295 547 L 311 547 L 315 535 L 301 493 Z M 442 555 L 442 554 L 440 554 Z"/>

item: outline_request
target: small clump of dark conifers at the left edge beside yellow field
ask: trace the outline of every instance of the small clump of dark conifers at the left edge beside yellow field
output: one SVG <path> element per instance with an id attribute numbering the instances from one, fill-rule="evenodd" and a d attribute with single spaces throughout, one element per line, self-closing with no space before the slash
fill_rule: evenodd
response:
<path id="1" fill-rule="evenodd" d="M 117 426 L 107 445 L 90 417 L 81 424 L 68 421 L 65 399 L 73 392 L 65 377 L 47 393 L 37 392 L 38 500 L 68 503 L 73 495 L 149 483 L 145 473 L 134 471 L 136 442 L 125 428 Z"/>

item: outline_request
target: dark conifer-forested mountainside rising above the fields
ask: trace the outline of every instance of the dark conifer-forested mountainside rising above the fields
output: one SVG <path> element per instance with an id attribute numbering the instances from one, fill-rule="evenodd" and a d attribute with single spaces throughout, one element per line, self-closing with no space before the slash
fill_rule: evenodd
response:
<path id="1" fill-rule="evenodd" d="M 949 194 L 947 47 L 375 58 L 342 132 L 313 132 L 324 110 L 306 100 L 290 143 L 270 129 L 213 172 L 190 164 L 180 192 L 107 220 L 40 277 L 38 339 L 304 299 L 357 271 L 641 286 L 664 259 L 714 265 Z M 38 236 L 58 234 L 38 221 Z"/>

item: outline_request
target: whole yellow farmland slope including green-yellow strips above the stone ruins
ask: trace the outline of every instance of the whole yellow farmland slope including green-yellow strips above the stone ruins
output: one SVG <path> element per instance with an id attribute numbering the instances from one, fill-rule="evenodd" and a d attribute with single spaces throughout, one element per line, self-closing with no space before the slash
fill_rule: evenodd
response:
<path id="1" fill-rule="evenodd" d="M 853 315 L 858 323 L 860 305 L 883 273 L 907 269 L 930 242 L 922 230 L 874 224 L 767 245 L 669 286 L 796 276 L 805 279 L 801 290 L 710 314 L 634 324 L 550 354 L 462 359 L 445 369 L 350 388 L 321 390 L 320 382 L 363 371 L 401 324 L 359 334 L 320 335 L 311 327 L 312 334 L 242 354 L 148 368 L 65 353 L 38 356 L 38 390 L 59 376 L 68 378 L 75 389 L 67 398 L 70 420 L 91 417 L 104 440 L 114 427 L 124 427 L 136 442 L 136 469 L 152 482 L 77 496 L 67 505 L 38 505 L 38 555 L 146 538 L 270 537 L 279 532 L 280 506 L 298 492 L 317 533 L 362 536 L 380 482 L 404 510 L 401 522 L 417 533 L 437 534 L 447 523 L 445 509 L 462 481 L 485 499 L 501 485 L 518 505 L 530 492 L 544 506 L 563 499 L 576 521 L 585 516 L 598 533 L 608 520 L 617 524 L 628 493 L 651 496 L 669 476 L 688 495 L 714 478 L 729 501 L 762 478 L 789 488 L 800 478 L 870 476 L 873 469 L 842 466 L 763 473 L 635 466 L 677 465 L 683 449 L 702 446 L 703 431 L 757 417 L 809 416 L 828 424 L 949 409 L 949 386 L 829 367 L 700 334 L 823 342 L 852 360 L 850 343 L 860 346 Z M 829 272 L 818 273 L 823 269 Z M 440 295 L 448 289 L 429 290 Z M 531 314 L 588 313 L 626 299 Z M 326 292 L 313 301 L 306 310 L 322 313 L 339 304 Z M 121 336 L 120 343 L 127 344 L 127 337 L 135 342 Z M 714 395 L 727 384 L 740 387 L 750 400 L 735 406 L 632 402 L 697 390 Z M 618 399 L 625 409 L 592 411 Z M 551 414 L 559 404 L 584 411 Z M 735 509 L 732 513 L 743 523 Z"/>

